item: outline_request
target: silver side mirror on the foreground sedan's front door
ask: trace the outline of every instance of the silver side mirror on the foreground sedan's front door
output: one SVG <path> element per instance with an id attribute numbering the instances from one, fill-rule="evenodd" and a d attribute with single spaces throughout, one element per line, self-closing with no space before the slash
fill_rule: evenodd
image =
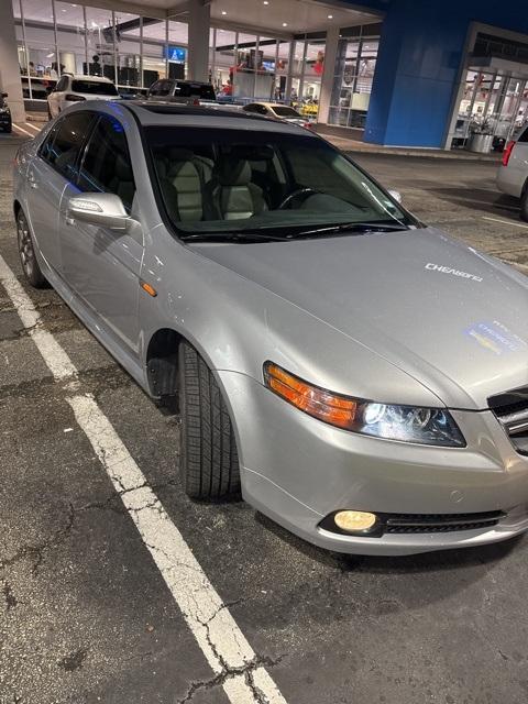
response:
<path id="1" fill-rule="evenodd" d="M 114 194 L 88 193 L 74 196 L 68 201 L 67 217 L 73 221 L 79 220 L 116 232 L 127 232 L 133 222 L 123 201 Z"/>

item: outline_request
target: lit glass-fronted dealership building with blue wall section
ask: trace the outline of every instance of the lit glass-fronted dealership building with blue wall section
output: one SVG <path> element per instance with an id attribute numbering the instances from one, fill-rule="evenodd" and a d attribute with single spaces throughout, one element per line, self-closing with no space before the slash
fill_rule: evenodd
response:
<path id="1" fill-rule="evenodd" d="M 123 97 L 163 78 L 220 100 L 294 103 L 321 131 L 392 146 L 490 144 L 528 123 L 520 0 L 0 0 L 0 87 L 15 120 L 62 73 Z"/>

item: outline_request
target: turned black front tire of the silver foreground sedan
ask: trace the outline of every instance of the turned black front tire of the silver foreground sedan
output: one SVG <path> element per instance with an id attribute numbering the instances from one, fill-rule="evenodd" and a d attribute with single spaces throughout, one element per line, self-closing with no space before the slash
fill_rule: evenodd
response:
<path id="1" fill-rule="evenodd" d="M 190 344 L 179 345 L 180 473 L 191 498 L 240 494 L 237 441 L 211 371 Z"/>

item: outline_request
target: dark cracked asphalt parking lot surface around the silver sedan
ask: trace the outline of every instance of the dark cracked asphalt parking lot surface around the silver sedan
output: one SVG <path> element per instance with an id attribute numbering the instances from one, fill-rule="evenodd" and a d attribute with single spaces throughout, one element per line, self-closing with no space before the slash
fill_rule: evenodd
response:
<path id="1" fill-rule="evenodd" d="M 526 703 L 528 538 L 413 558 L 340 557 L 243 503 L 184 496 L 177 415 L 148 400 L 53 290 L 22 279 L 15 144 L 0 141 L 0 255 L 78 370 L 76 394 L 92 394 L 254 658 L 213 671 L 67 385 L 0 285 L 0 704 L 227 704 L 235 676 L 251 692 L 232 700 L 241 704 Z M 496 191 L 495 165 L 358 161 L 417 216 L 528 273 L 528 224 Z M 284 700 L 257 686 L 261 667 Z"/>

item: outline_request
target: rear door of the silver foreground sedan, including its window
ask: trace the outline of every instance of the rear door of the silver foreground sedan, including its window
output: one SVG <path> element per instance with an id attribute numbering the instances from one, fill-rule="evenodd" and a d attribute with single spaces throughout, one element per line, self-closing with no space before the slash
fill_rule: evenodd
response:
<path id="1" fill-rule="evenodd" d="M 48 266 L 62 273 L 58 211 L 63 191 L 75 182 L 82 144 L 95 116 L 74 112 L 57 121 L 26 170 L 26 215 Z"/>

